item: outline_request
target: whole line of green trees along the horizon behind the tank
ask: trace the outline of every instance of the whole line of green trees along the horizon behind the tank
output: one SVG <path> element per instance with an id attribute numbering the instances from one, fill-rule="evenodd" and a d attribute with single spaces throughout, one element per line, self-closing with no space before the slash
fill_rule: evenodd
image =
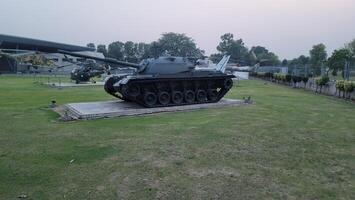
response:
<path id="1" fill-rule="evenodd" d="M 135 63 L 145 58 L 159 57 L 164 53 L 172 56 L 206 57 L 205 51 L 199 49 L 191 37 L 173 32 L 163 33 L 157 41 L 151 43 L 115 41 L 107 47 L 103 44 L 95 46 L 93 43 L 87 46 L 95 48 L 106 57 Z M 231 62 L 241 66 L 309 66 L 314 76 L 321 75 L 323 67 L 327 74 L 331 72 L 336 75 L 340 71 L 343 72 L 346 62 L 354 60 L 355 39 L 345 47 L 335 50 L 330 57 L 326 46 L 321 43 L 314 45 L 307 56 L 301 55 L 291 60 L 280 61 L 279 57 L 266 47 L 252 46 L 249 49 L 243 39 L 236 39 L 232 33 L 225 33 L 220 37 L 217 51 L 218 53 L 210 56 L 214 62 L 219 61 L 224 55 L 230 55 Z"/>

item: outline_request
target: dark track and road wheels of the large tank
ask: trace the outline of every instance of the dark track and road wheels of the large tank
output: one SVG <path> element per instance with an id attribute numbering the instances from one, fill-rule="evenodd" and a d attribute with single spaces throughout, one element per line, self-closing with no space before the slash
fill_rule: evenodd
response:
<path id="1" fill-rule="evenodd" d="M 215 103 L 232 88 L 233 77 L 140 78 L 120 87 L 113 86 L 118 78 L 111 77 L 105 83 L 105 90 L 117 98 L 149 108 Z"/>

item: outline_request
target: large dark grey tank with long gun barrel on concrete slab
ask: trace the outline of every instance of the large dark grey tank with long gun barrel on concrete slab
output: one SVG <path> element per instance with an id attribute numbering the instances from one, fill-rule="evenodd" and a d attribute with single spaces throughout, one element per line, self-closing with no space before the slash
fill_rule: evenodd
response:
<path id="1" fill-rule="evenodd" d="M 178 106 L 218 102 L 233 86 L 234 75 L 226 74 L 230 56 L 224 56 L 214 69 L 196 69 L 193 59 L 164 56 L 145 59 L 139 64 L 111 58 L 94 59 L 122 67 L 136 68 L 133 75 L 112 75 L 105 81 L 105 91 L 112 96 L 145 107 Z"/>

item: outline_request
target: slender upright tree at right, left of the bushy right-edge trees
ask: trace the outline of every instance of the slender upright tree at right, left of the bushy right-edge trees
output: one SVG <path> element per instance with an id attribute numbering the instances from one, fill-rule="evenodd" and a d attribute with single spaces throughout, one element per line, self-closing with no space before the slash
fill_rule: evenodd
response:
<path id="1" fill-rule="evenodd" d="M 321 67 L 327 60 L 327 51 L 324 44 L 314 45 L 309 51 L 310 54 L 310 64 L 316 75 L 321 74 Z"/>

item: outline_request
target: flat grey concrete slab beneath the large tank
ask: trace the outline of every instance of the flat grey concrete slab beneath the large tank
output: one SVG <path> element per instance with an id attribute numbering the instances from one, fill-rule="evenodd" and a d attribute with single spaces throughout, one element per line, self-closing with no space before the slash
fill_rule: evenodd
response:
<path id="1" fill-rule="evenodd" d="M 135 103 L 125 101 L 103 101 L 88 103 L 70 103 L 62 107 L 56 108 L 55 111 L 58 112 L 65 120 L 77 120 L 148 115 L 161 112 L 177 112 L 238 105 L 247 105 L 247 103 L 245 103 L 243 100 L 222 99 L 218 103 L 145 108 Z"/>

